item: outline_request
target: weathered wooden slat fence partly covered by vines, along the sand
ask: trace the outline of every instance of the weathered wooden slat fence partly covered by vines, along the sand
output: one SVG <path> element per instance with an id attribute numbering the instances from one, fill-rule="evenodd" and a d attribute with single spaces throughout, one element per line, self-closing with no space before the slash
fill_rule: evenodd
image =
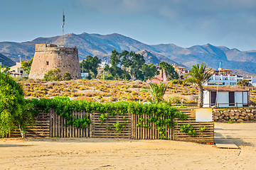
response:
<path id="1" fill-rule="evenodd" d="M 165 136 L 169 140 L 182 140 L 191 142 L 213 142 L 214 125 L 210 123 L 196 123 L 195 111 L 193 108 L 178 108 L 178 110 L 188 115 L 188 120 L 177 120 L 178 125 L 174 129 L 166 127 Z M 100 120 L 100 113 L 78 113 L 73 111 L 73 118 L 85 118 L 89 116 L 92 123 L 86 128 L 75 128 L 74 125 L 65 126 L 67 121 L 60 115 L 57 115 L 55 111 L 50 110 L 49 114 L 41 114 L 36 118 L 37 124 L 33 128 L 29 128 L 26 136 L 28 137 L 111 137 L 111 138 L 130 138 L 134 140 L 157 140 L 159 139 L 159 130 L 156 129 L 154 123 L 147 123 L 149 115 L 110 115 L 107 113 L 107 120 L 103 123 Z M 153 115 L 154 116 L 154 115 Z M 149 125 L 151 128 L 143 128 L 137 126 L 139 118 L 144 119 L 144 124 Z M 167 118 L 167 117 L 166 117 Z M 127 123 L 128 120 L 128 123 Z M 117 132 L 113 124 L 124 124 L 122 132 Z M 193 129 L 196 130 L 196 137 L 187 135 L 179 130 L 181 124 L 190 124 Z M 206 126 L 208 130 L 201 132 L 200 128 Z M 11 137 L 20 136 L 18 132 L 12 133 Z"/>

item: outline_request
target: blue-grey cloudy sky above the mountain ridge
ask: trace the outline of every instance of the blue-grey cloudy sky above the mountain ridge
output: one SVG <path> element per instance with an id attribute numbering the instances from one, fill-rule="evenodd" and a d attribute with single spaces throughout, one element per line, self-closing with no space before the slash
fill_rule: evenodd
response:
<path id="1" fill-rule="evenodd" d="M 255 0 L 0 0 L 0 42 L 119 33 L 149 45 L 256 50 Z"/>

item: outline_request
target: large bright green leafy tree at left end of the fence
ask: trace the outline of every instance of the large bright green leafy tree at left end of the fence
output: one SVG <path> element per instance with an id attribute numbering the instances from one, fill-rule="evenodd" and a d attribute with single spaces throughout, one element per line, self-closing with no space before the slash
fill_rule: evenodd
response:
<path id="1" fill-rule="evenodd" d="M 18 127 L 25 137 L 26 128 L 33 123 L 32 106 L 23 98 L 21 84 L 4 72 L 0 72 L 0 103 L 0 136 Z"/>

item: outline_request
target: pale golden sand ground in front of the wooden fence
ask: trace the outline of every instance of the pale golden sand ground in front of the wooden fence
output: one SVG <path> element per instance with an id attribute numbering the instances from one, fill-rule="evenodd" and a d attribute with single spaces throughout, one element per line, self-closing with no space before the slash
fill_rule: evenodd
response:
<path id="1" fill-rule="evenodd" d="M 215 123 L 240 149 L 167 140 L 0 139 L 0 169 L 256 169 L 256 123 Z"/>

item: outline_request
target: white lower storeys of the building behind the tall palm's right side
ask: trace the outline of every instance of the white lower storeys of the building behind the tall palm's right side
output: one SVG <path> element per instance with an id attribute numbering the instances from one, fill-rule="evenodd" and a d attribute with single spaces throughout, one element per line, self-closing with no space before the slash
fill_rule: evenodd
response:
<path id="1" fill-rule="evenodd" d="M 239 80 L 243 80 L 243 77 L 238 75 L 216 75 L 213 74 L 210 77 L 207 86 L 235 86 Z"/>

